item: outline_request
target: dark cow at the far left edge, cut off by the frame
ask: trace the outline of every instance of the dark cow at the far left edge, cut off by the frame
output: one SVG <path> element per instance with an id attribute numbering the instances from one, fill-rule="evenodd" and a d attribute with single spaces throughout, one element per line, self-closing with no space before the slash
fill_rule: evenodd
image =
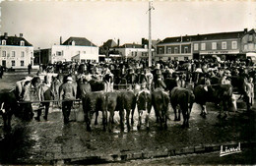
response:
<path id="1" fill-rule="evenodd" d="M 12 116 L 18 116 L 18 109 L 19 105 L 14 90 L 0 93 L 0 115 L 3 117 L 4 130 L 11 130 Z"/>

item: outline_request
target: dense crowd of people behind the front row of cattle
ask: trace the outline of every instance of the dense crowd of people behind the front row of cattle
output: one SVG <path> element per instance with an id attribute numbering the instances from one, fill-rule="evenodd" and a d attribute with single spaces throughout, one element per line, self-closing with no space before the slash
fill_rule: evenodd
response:
<path id="1" fill-rule="evenodd" d="M 44 81 L 35 85 L 41 101 L 40 106 L 45 110 L 44 120 L 47 120 L 49 110 L 47 100 L 54 100 L 54 103 L 62 107 L 64 123 L 67 124 L 73 101 L 96 90 L 127 89 L 139 93 L 141 90 L 154 91 L 159 88 L 170 92 L 174 86 L 193 90 L 198 84 L 231 83 L 234 90 L 240 92 L 246 101 L 247 110 L 250 110 L 254 103 L 255 69 L 251 62 L 160 60 L 154 62 L 152 67 L 148 67 L 147 64 L 147 60 L 72 63 L 66 66 L 66 73 L 61 64 L 50 65 L 50 72 L 57 73 L 57 77 L 50 78 L 45 74 Z M 47 69 L 47 66 L 44 66 L 37 75 L 49 72 Z M 23 91 L 23 94 L 26 94 L 26 88 Z M 23 96 L 23 100 L 26 100 L 25 97 L 26 95 Z M 41 110 L 38 108 L 35 117 L 38 121 Z"/>

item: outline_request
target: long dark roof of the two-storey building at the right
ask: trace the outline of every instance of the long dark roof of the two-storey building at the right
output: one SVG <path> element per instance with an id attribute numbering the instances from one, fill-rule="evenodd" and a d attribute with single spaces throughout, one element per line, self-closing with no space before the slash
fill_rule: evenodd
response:
<path id="1" fill-rule="evenodd" d="M 241 38 L 244 34 L 245 34 L 244 31 L 231 31 L 231 32 L 209 33 L 209 34 L 175 36 L 175 37 L 164 38 L 162 41 L 160 41 L 160 43 Z"/>

